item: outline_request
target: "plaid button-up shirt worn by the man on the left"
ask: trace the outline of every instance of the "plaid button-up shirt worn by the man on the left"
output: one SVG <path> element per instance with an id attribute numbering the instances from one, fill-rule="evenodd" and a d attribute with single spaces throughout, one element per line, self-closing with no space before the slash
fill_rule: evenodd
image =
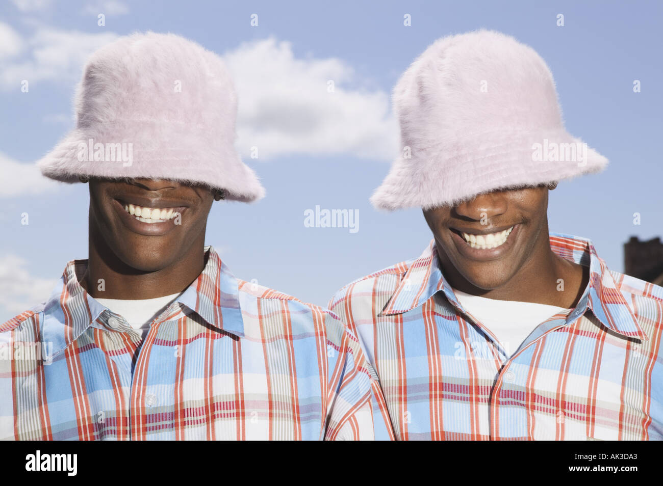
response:
<path id="1" fill-rule="evenodd" d="M 78 283 L 0 326 L 0 439 L 372 439 L 357 338 L 213 249 L 145 339 Z"/>

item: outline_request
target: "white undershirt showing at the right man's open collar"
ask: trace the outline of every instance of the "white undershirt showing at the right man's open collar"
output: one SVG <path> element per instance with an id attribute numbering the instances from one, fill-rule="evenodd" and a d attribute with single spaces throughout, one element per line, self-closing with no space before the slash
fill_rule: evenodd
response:
<path id="1" fill-rule="evenodd" d="M 530 333 L 548 317 L 566 311 L 564 307 L 531 302 L 500 301 L 453 289 L 465 311 L 490 330 L 511 356 Z"/>

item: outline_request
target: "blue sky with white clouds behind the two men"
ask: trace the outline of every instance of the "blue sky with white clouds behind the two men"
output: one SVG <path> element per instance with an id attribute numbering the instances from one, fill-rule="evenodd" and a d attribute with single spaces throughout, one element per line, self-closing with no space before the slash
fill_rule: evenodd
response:
<path id="1" fill-rule="evenodd" d="M 97 26 L 98 13 L 105 26 Z M 258 26 L 250 24 L 254 13 Z M 403 25 L 406 13 L 411 26 Z M 541 54 L 567 129 L 611 161 L 599 175 L 560 183 L 548 215 L 552 231 L 591 238 L 621 271 L 631 235 L 663 232 L 662 20 L 663 3 L 653 0 L 3 2 L 0 322 L 45 299 L 66 262 L 88 254 L 87 187 L 50 183 L 32 164 L 74 126 L 84 60 L 116 36 L 175 32 L 225 58 L 239 93 L 238 148 L 267 197 L 216 203 L 208 244 L 237 277 L 326 305 L 345 283 L 428 244 L 420 211 L 381 213 L 368 202 L 397 150 L 390 93 L 436 38 L 481 27 Z M 266 103 L 274 107 L 269 117 Z M 258 159 L 248 156 L 254 145 Z M 304 226 L 304 211 L 316 205 L 358 210 L 359 230 Z"/>

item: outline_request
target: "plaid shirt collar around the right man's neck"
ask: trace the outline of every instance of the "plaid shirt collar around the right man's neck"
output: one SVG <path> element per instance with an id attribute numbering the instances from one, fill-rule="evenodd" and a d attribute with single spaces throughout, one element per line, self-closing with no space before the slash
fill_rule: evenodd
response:
<path id="1" fill-rule="evenodd" d="M 614 332 L 631 338 L 647 339 L 638 324 L 632 303 L 619 290 L 612 273 L 597 255 L 591 241 L 579 236 L 551 233 L 550 248 L 566 260 L 589 266 L 589 283 L 578 305 L 568 315 L 566 324 L 590 309 L 601 324 Z M 396 315 L 416 309 L 438 291 L 442 291 L 454 307 L 464 312 L 452 287 L 442 275 L 435 240 L 432 240 L 421 256 L 412 261 L 381 315 Z"/>

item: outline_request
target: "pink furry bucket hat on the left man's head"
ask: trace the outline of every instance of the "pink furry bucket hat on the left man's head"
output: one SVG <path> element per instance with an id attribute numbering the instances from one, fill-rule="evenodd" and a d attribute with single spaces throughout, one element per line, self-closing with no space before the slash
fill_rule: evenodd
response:
<path id="1" fill-rule="evenodd" d="M 265 195 L 235 150 L 237 98 L 221 58 L 175 34 L 132 34 L 90 56 L 77 126 L 38 166 L 47 177 L 144 177 Z"/>

